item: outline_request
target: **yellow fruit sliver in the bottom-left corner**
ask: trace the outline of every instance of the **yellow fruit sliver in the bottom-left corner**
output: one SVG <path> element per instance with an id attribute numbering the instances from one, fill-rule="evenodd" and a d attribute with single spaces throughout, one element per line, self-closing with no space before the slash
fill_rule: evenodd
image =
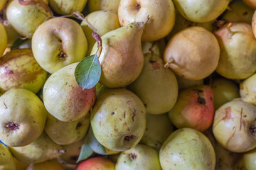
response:
<path id="1" fill-rule="evenodd" d="M 8 147 L 0 142 L 0 170 L 16 170 L 14 157 Z"/>

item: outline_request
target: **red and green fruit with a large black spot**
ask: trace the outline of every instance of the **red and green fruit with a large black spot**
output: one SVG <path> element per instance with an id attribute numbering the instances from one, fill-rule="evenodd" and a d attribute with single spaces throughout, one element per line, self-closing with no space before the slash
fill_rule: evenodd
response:
<path id="1" fill-rule="evenodd" d="M 213 116 L 213 89 L 206 85 L 181 91 L 174 108 L 169 111 L 169 118 L 177 128 L 193 128 L 201 132 L 210 127 Z"/>

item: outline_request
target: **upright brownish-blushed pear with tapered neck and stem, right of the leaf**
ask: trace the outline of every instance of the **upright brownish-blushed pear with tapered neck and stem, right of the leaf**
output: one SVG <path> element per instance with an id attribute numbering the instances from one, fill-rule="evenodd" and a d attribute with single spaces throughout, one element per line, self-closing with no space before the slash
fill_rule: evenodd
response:
<path id="1" fill-rule="evenodd" d="M 102 36 L 102 50 L 97 53 L 102 67 L 100 84 L 109 88 L 128 86 L 142 72 L 144 57 L 141 37 L 144 22 L 134 22 Z M 97 43 L 92 48 L 95 55 Z"/>

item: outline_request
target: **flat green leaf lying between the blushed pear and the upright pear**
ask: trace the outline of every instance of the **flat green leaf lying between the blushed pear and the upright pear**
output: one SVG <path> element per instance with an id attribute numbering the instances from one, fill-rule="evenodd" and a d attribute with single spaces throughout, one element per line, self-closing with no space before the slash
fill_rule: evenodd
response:
<path id="1" fill-rule="evenodd" d="M 82 89 L 91 89 L 100 80 L 101 67 L 97 55 L 85 57 L 75 67 L 75 80 Z"/>

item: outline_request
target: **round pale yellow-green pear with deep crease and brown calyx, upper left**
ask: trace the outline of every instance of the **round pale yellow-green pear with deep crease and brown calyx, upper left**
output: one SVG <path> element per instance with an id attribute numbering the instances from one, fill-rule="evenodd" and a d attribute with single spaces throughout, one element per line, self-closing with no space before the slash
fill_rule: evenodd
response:
<path id="1" fill-rule="evenodd" d="M 36 29 L 32 50 L 38 64 L 52 74 L 68 64 L 80 62 L 87 53 L 87 40 L 77 22 L 52 18 Z"/>

